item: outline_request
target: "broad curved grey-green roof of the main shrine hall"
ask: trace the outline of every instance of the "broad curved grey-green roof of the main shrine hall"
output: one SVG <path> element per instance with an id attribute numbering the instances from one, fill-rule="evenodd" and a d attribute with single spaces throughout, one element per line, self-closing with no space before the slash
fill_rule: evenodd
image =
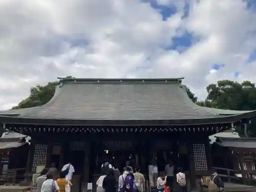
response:
<path id="1" fill-rule="evenodd" d="M 70 120 L 196 120 L 248 114 L 192 102 L 179 79 L 64 79 L 45 105 L 2 116 Z"/>

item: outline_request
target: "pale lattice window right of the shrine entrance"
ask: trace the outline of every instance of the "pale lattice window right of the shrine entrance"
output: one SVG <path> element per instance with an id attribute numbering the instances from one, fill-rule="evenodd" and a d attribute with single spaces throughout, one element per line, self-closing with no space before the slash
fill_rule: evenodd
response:
<path id="1" fill-rule="evenodd" d="M 193 154 L 196 170 L 207 170 L 207 158 L 204 144 L 193 144 Z"/>

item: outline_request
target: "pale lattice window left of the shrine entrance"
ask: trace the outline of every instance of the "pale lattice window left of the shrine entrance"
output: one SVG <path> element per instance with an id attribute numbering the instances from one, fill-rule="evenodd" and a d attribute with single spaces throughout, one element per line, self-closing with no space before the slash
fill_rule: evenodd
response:
<path id="1" fill-rule="evenodd" d="M 35 144 L 34 159 L 32 172 L 36 172 L 37 166 L 45 166 L 46 164 L 47 144 Z"/>

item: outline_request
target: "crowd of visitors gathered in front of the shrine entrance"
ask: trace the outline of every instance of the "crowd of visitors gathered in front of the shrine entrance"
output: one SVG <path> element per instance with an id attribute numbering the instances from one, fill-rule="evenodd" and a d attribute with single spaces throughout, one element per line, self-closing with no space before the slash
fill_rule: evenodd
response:
<path id="1" fill-rule="evenodd" d="M 145 192 L 146 182 L 144 175 L 140 173 L 140 168 L 135 168 L 135 173 L 131 166 L 125 166 L 121 174 L 118 168 L 114 168 L 109 163 L 101 166 L 102 175 L 98 178 L 97 192 Z M 74 166 L 67 163 L 58 173 L 55 165 L 50 169 L 42 169 L 40 176 L 36 180 L 37 192 L 70 192 L 72 186 L 72 176 L 75 172 Z M 165 166 L 165 171 L 159 173 L 157 178 L 157 192 L 173 191 L 174 165 L 172 162 Z M 178 192 L 186 192 L 186 177 L 182 169 L 178 167 L 176 172 L 176 182 Z M 56 178 L 59 177 L 58 179 Z M 224 190 L 224 184 L 217 172 L 213 172 L 208 186 L 210 192 Z"/>

